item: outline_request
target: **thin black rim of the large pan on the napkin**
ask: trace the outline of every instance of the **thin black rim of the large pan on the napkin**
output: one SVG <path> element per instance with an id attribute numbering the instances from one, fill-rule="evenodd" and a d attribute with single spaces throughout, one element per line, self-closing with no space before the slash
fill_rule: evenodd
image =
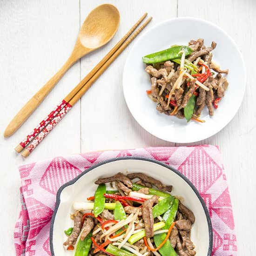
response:
<path id="1" fill-rule="evenodd" d="M 111 159 L 102 161 L 100 163 L 97 163 L 97 164 L 93 165 L 92 167 L 88 168 L 87 170 L 83 171 L 80 175 L 75 177 L 73 180 L 63 184 L 60 187 L 60 189 L 58 190 L 58 192 L 56 194 L 56 204 L 55 204 L 55 209 L 54 209 L 54 213 L 53 213 L 53 216 L 52 216 L 51 227 L 50 227 L 50 250 L 51 250 L 52 256 L 55 256 L 55 254 L 54 254 L 54 246 L 53 246 L 54 221 L 55 221 L 55 217 L 56 217 L 57 211 L 58 211 L 60 203 L 61 203 L 61 192 L 62 192 L 62 190 L 64 188 L 66 188 L 67 186 L 70 186 L 70 185 L 74 184 L 77 180 L 79 180 L 83 175 L 87 174 L 89 171 L 91 171 L 91 170 L 93 170 L 93 169 L 95 169 L 95 168 L 97 168 L 97 167 L 99 167 L 101 165 L 104 165 L 106 163 L 120 161 L 120 160 L 141 160 L 141 161 L 153 162 L 153 163 L 162 165 L 163 167 L 166 167 L 169 170 L 173 171 L 175 174 L 179 175 L 185 182 L 187 182 L 189 184 L 189 186 L 191 187 L 191 189 L 193 189 L 193 191 L 195 192 L 195 195 L 197 196 L 197 198 L 201 202 L 202 208 L 204 210 L 204 213 L 205 213 L 205 216 L 206 216 L 206 219 L 207 219 L 208 230 L 209 230 L 209 249 L 208 249 L 207 256 L 210 256 L 211 252 L 212 252 L 212 246 L 213 246 L 213 230 L 212 230 L 211 219 L 210 219 L 209 211 L 208 211 L 208 209 L 206 207 L 206 204 L 203 201 L 203 199 L 202 199 L 201 195 L 199 194 L 198 190 L 193 185 L 193 183 L 190 182 L 189 179 L 186 176 L 184 176 L 182 173 L 180 173 L 178 170 L 176 170 L 172 166 L 169 166 L 169 165 L 167 165 L 165 163 L 159 162 L 159 161 L 157 161 L 155 159 L 150 159 L 150 158 L 145 158 L 145 157 L 134 157 L 134 156 L 125 156 L 125 157 L 111 158 Z"/>

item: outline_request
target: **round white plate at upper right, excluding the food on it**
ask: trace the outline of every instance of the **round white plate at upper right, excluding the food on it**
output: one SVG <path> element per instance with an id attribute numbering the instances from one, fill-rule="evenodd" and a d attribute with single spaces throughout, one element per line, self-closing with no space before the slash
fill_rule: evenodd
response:
<path id="1" fill-rule="evenodd" d="M 229 88 L 219 102 L 214 116 L 210 117 L 204 108 L 201 118 L 205 123 L 178 119 L 161 114 L 156 103 L 151 101 L 146 90 L 151 83 L 145 72 L 141 57 L 161 51 L 171 45 L 188 45 L 189 40 L 203 38 L 205 45 L 217 43 L 213 51 L 213 61 L 222 69 L 229 69 Z M 245 66 L 236 43 L 220 27 L 195 18 L 175 18 L 166 20 L 149 29 L 135 43 L 128 55 L 123 72 L 123 92 L 128 108 L 135 120 L 156 137 L 177 143 L 200 141 L 219 132 L 234 117 L 239 109 L 245 91 Z"/>

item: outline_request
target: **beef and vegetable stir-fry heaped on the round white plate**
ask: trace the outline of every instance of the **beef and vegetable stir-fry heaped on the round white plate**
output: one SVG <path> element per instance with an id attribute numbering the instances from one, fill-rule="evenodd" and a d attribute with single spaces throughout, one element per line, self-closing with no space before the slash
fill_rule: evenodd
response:
<path id="1" fill-rule="evenodd" d="M 142 58 L 151 81 L 147 94 L 160 113 L 204 122 L 200 115 L 206 106 L 214 115 L 229 85 L 224 76 L 229 71 L 212 61 L 215 48 L 216 42 L 205 47 L 200 38 L 190 40 L 189 46 L 175 45 Z"/>

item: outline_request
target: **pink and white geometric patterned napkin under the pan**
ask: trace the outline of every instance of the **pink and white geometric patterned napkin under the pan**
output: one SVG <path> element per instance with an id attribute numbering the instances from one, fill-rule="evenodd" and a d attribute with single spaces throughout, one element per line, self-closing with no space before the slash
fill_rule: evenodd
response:
<path id="1" fill-rule="evenodd" d="M 51 255 L 49 229 L 58 189 L 94 164 L 121 156 L 155 159 L 187 176 L 209 209 L 214 234 L 212 255 L 237 256 L 226 176 L 219 149 L 210 145 L 97 151 L 20 166 L 22 209 L 14 230 L 16 255 Z"/>

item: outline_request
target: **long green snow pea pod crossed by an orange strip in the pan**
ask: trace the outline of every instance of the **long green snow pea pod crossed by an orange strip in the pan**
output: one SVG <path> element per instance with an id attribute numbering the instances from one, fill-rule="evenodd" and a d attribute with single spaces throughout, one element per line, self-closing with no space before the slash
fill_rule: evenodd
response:
<path id="1" fill-rule="evenodd" d="M 165 221 L 164 229 L 169 229 L 172 222 L 175 219 L 177 210 L 178 210 L 179 200 L 177 198 L 174 199 L 173 205 L 168 211 L 163 215 L 162 219 Z M 157 234 L 154 236 L 154 242 L 156 246 L 159 246 L 165 239 L 166 234 Z M 166 243 L 159 249 L 159 252 L 162 256 L 176 256 L 176 252 L 173 249 L 170 240 L 168 239 Z"/>

